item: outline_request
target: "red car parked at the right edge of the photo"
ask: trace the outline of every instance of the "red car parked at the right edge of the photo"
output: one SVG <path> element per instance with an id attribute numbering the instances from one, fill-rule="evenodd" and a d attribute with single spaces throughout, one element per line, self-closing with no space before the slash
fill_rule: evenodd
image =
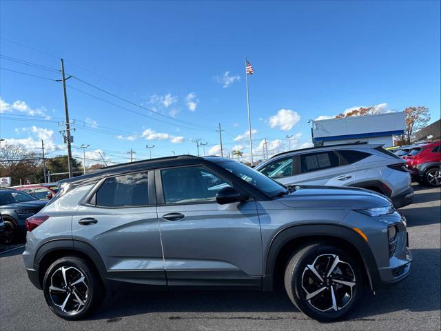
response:
<path id="1" fill-rule="evenodd" d="M 413 148 L 406 158 L 407 168 L 415 181 L 441 185 L 441 141 Z"/>

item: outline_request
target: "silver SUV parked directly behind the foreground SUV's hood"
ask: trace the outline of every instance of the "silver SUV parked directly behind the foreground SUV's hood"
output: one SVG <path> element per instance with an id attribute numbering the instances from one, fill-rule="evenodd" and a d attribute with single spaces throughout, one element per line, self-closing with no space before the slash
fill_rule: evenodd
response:
<path id="1" fill-rule="evenodd" d="M 413 201 L 406 162 L 382 145 L 349 143 L 293 150 L 255 169 L 284 185 L 367 188 L 391 198 L 396 208 Z"/>

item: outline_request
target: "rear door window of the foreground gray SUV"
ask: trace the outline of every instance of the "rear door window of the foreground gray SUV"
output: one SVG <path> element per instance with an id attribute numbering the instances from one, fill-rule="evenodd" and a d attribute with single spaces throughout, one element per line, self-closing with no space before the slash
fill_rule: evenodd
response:
<path id="1" fill-rule="evenodd" d="M 96 191 L 96 205 L 130 207 L 148 205 L 148 177 L 146 172 L 107 178 Z"/>

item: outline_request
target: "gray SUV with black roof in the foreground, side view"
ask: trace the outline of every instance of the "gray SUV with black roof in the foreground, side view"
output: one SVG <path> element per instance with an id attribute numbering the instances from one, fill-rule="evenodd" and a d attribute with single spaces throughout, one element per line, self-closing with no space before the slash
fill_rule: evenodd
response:
<path id="1" fill-rule="evenodd" d="M 342 319 L 409 274 L 406 221 L 359 188 L 285 187 L 236 161 L 137 161 L 61 182 L 28 219 L 23 259 L 52 312 L 81 319 L 123 288 L 285 285 L 296 307 Z"/>

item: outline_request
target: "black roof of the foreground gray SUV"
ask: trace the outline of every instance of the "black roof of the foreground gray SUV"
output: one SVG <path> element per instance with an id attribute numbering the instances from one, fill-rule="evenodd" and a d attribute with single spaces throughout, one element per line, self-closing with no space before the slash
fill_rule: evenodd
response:
<path id="1" fill-rule="evenodd" d="M 141 161 L 134 161 L 116 165 L 110 165 L 105 168 L 94 170 L 88 174 L 82 174 L 81 176 L 72 177 L 70 179 L 62 179 L 57 183 L 72 183 L 72 182 L 88 182 L 94 181 L 97 178 L 109 176 L 112 174 L 118 174 L 123 172 L 134 172 L 137 170 L 149 170 L 152 168 L 159 168 L 163 166 L 173 165 L 187 165 L 204 161 L 203 157 L 195 157 L 194 155 L 178 155 L 176 157 L 159 157 L 157 159 L 148 159 Z"/>

